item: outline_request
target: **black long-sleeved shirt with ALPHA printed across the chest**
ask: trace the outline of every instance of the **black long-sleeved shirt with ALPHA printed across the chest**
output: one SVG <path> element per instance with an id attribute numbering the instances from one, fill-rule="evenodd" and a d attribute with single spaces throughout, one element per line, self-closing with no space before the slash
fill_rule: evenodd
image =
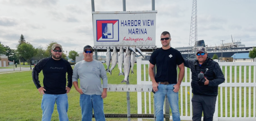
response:
<path id="1" fill-rule="evenodd" d="M 38 75 L 43 70 L 44 93 L 46 94 L 64 94 L 66 93 L 66 73 L 67 87 L 72 87 L 73 70 L 69 62 L 60 59 L 54 60 L 52 57 L 40 60 L 32 71 L 32 78 L 37 89 L 41 87 Z"/>

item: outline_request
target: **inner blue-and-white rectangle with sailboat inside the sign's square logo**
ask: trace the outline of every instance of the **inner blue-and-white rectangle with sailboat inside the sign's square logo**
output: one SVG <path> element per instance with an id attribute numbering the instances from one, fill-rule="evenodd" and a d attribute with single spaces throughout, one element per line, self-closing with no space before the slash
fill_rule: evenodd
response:
<path id="1" fill-rule="evenodd" d="M 102 39 L 113 38 L 113 24 L 102 23 Z"/>

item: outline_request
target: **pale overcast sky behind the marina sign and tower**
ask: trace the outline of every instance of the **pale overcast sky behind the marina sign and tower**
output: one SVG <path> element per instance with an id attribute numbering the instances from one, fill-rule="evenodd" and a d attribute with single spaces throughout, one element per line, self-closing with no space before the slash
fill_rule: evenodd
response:
<path id="1" fill-rule="evenodd" d="M 122 0 L 94 0 L 95 11 L 122 11 Z M 156 45 L 171 33 L 172 47 L 189 45 L 193 0 L 155 0 Z M 208 46 L 238 41 L 256 46 L 256 0 L 198 0 L 198 40 Z M 152 10 L 151 0 L 126 0 L 126 11 Z M 16 49 L 20 35 L 35 48 L 51 41 L 64 51 L 93 46 L 91 0 L 0 0 L 0 41 Z"/>

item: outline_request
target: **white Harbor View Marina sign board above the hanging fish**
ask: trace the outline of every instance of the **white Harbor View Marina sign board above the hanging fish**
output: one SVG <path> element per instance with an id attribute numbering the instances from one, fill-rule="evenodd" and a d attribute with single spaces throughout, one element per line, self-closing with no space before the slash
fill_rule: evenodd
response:
<path id="1" fill-rule="evenodd" d="M 92 12 L 94 46 L 156 45 L 156 13 Z"/>

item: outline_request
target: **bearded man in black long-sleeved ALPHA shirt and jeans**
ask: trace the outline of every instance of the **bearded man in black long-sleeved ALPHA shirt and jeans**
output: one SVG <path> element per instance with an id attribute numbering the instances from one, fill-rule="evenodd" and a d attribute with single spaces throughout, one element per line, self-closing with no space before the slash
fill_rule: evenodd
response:
<path id="1" fill-rule="evenodd" d="M 50 121 L 54 104 L 57 104 L 60 121 L 68 121 L 67 93 L 72 87 L 73 70 L 68 61 L 61 58 L 62 47 L 60 44 L 53 44 L 52 56 L 43 58 L 36 64 L 32 71 L 34 84 L 40 94 L 43 94 L 41 108 L 43 110 L 42 121 Z M 38 75 L 43 70 L 43 85 L 41 87 Z M 67 87 L 66 87 L 66 73 Z"/>

